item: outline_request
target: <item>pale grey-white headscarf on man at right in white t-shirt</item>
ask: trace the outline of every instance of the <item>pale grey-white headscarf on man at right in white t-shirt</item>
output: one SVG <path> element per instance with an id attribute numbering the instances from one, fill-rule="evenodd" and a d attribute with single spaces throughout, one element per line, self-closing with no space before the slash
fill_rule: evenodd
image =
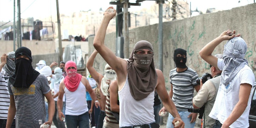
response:
<path id="1" fill-rule="evenodd" d="M 237 73 L 248 65 L 248 61 L 243 58 L 246 51 L 247 45 L 240 37 L 234 37 L 225 44 L 223 51 L 225 67 L 222 70 L 221 83 L 228 85 Z"/>

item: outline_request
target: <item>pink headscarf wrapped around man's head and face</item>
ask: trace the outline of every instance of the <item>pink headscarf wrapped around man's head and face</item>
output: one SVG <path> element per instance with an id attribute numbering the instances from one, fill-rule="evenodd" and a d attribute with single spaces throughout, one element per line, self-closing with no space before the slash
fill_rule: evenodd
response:
<path id="1" fill-rule="evenodd" d="M 69 67 L 75 67 L 75 69 L 68 69 Z M 82 79 L 82 75 L 77 73 L 76 64 L 74 61 L 68 61 L 65 64 L 67 76 L 64 79 L 64 84 L 69 91 L 75 91 Z"/>

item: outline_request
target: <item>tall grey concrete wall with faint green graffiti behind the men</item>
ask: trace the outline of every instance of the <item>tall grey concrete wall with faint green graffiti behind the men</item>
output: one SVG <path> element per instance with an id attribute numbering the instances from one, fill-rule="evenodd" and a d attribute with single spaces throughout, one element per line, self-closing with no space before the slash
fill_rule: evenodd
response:
<path id="1" fill-rule="evenodd" d="M 215 39 L 225 30 L 236 30 L 247 43 L 245 58 L 249 66 L 256 73 L 256 3 L 233 8 L 227 11 L 203 14 L 183 20 L 175 20 L 163 23 L 163 74 L 167 90 L 170 89 L 169 72 L 175 68 L 173 52 L 176 48 L 183 48 L 187 51 L 187 66 L 197 71 L 199 76 L 203 73 L 210 73 L 207 62 L 201 59 L 199 51 L 207 43 Z M 158 62 L 158 24 L 138 27 L 129 30 L 130 51 L 134 44 L 140 40 L 147 40 L 152 43 L 154 50 L 154 62 L 156 68 Z M 89 38 L 89 55 L 93 52 L 93 39 Z M 105 44 L 115 52 L 116 34 L 110 33 L 105 36 Z M 223 41 L 215 48 L 213 54 L 223 53 Z M 100 55 L 96 56 L 94 67 L 103 73 L 105 61 Z"/>

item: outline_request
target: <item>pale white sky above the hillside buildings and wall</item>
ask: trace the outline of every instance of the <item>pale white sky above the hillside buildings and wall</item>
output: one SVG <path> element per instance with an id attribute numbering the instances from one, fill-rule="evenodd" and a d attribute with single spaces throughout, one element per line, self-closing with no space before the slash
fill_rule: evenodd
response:
<path id="1" fill-rule="evenodd" d="M 102 8 L 105 10 L 109 6 L 115 8 L 116 5 L 110 5 L 111 0 L 58 0 L 60 14 L 71 15 L 73 12 L 99 10 Z M 130 0 L 135 2 L 136 0 Z M 170 1 L 170 0 L 169 0 Z M 179 1 L 179 0 L 176 0 Z M 215 8 L 217 10 L 229 10 L 238 6 L 251 4 L 254 0 L 180 0 L 191 2 L 191 10 L 198 8 L 199 11 L 205 11 L 208 8 Z M 240 2 L 238 2 L 240 1 Z M 17 5 L 17 0 L 15 0 Z M 138 11 L 142 8 L 148 8 L 149 6 L 156 4 L 155 1 L 146 0 L 141 2 L 141 6 L 131 6 L 129 11 Z M 8 22 L 13 20 L 13 6 L 14 0 L 1 0 L 0 1 L 0 22 Z M 49 17 L 51 15 L 57 15 L 56 0 L 21 0 L 20 3 L 21 18 L 34 17 L 39 19 L 41 17 Z M 17 6 L 15 7 L 17 10 Z M 16 14 L 17 16 L 17 11 Z"/>

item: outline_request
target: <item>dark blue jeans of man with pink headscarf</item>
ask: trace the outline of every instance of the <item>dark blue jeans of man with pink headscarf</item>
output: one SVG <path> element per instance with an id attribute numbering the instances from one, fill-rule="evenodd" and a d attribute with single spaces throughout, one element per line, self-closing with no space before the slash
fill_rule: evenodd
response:
<path id="1" fill-rule="evenodd" d="M 72 116 L 65 115 L 67 128 L 90 128 L 89 125 L 89 113 L 86 112 L 82 115 Z"/>

